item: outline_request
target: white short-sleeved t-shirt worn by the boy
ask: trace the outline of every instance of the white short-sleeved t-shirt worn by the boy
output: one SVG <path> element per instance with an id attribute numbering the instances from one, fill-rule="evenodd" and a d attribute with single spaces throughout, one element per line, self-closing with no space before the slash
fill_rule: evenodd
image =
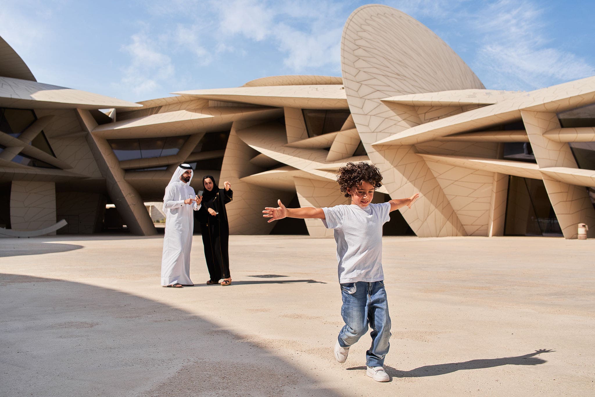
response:
<path id="1" fill-rule="evenodd" d="M 322 208 L 327 229 L 334 229 L 339 261 L 339 283 L 384 280 L 382 226 L 390 220 L 390 202 L 336 205 Z"/>

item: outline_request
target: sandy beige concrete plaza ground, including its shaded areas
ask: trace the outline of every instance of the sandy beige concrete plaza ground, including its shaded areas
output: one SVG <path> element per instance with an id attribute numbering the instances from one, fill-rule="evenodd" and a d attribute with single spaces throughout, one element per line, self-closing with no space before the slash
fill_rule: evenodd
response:
<path id="1" fill-rule="evenodd" d="M 171 289 L 160 236 L 0 239 L 0 395 L 595 395 L 594 240 L 385 237 L 390 383 L 369 336 L 334 361 L 334 240 L 230 246 L 233 285 L 195 236 Z"/>

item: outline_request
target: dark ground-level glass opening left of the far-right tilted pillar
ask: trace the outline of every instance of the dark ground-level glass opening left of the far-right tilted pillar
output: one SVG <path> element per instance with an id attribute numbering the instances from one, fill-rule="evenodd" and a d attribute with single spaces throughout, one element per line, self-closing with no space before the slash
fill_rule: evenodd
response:
<path id="1" fill-rule="evenodd" d="M 511 176 L 506 201 L 507 236 L 562 236 L 543 180 Z"/>

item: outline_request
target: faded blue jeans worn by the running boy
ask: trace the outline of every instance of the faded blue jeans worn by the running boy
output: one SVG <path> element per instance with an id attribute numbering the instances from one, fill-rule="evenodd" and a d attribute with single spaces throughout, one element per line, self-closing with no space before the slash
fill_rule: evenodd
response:
<path id="1" fill-rule="evenodd" d="M 356 282 L 341 285 L 343 306 L 341 315 L 345 326 L 339 332 L 339 345 L 348 348 L 372 329 L 372 346 L 366 352 L 366 365 L 384 365 L 384 356 L 389 352 L 390 317 L 384 282 Z"/>

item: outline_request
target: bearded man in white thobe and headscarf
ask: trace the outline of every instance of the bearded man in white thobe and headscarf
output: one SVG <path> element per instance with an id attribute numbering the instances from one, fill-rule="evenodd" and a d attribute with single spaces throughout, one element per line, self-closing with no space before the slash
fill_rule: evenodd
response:
<path id="1" fill-rule="evenodd" d="M 201 208 L 201 196 L 190 187 L 193 171 L 188 164 L 180 164 L 165 188 L 165 236 L 161 258 L 161 285 L 181 288 L 193 285 L 190 280 L 190 249 L 194 216 Z"/>

